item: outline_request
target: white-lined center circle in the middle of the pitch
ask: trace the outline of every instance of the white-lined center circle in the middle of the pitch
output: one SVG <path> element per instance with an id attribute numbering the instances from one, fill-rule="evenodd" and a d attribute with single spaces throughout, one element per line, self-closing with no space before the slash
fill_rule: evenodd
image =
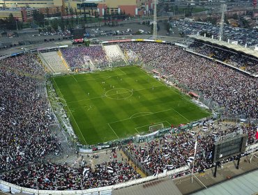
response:
<path id="1" fill-rule="evenodd" d="M 112 100 L 123 100 L 132 96 L 132 91 L 127 88 L 112 88 L 105 93 L 105 96 Z"/>

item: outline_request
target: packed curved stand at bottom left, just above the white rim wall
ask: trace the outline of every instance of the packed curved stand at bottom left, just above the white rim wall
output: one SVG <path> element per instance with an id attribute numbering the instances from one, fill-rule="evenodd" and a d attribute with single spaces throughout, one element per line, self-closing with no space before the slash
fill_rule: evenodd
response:
<path id="1" fill-rule="evenodd" d="M 15 185 L 45 190 L 80 190 L 115 185 L 141 176 L 128 163 L 110 160 L 96 164 L 95 169 L 84 165 L 79 169 L 66 164 L 35 164 L 0 176 Z"/>

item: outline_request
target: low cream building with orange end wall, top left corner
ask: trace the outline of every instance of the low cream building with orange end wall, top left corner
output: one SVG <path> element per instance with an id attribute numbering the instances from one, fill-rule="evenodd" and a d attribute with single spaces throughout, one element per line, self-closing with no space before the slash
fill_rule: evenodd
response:
<path id="1" fill-rule="evenodd" d="M 38 8 L 1 8 L 0 9 L 0 19 L 6 19 L 13 15 L 15 20 L 19 20 L 21 22 L 29 22 L 33 20 L 33 12 L 38 12 Z"/>

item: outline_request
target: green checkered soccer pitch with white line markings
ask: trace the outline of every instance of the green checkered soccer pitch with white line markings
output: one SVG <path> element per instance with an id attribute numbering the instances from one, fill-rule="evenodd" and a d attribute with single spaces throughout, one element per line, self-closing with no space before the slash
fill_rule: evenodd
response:
<path id="1" fill-rule="evenodd" d="M 210 114 L 187 95 L 137 66 L 52 78 L 56 93 L 83 144 L 122 139 L 149 126 L 188 123 Z"/>

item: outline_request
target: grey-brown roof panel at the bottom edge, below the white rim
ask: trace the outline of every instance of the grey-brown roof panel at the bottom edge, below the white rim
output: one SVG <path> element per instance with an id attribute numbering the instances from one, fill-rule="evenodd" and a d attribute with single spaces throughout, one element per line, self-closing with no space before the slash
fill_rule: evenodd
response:
<path id="1" fill-rule="evenodd" d="M 174 181 L 167 177 L 151 182 L 145 182 L 140 185 L 134 185 L 117 189 L 112 192 L 113 195 L 181 195 L 182 193 L 174 184 Z"/>

